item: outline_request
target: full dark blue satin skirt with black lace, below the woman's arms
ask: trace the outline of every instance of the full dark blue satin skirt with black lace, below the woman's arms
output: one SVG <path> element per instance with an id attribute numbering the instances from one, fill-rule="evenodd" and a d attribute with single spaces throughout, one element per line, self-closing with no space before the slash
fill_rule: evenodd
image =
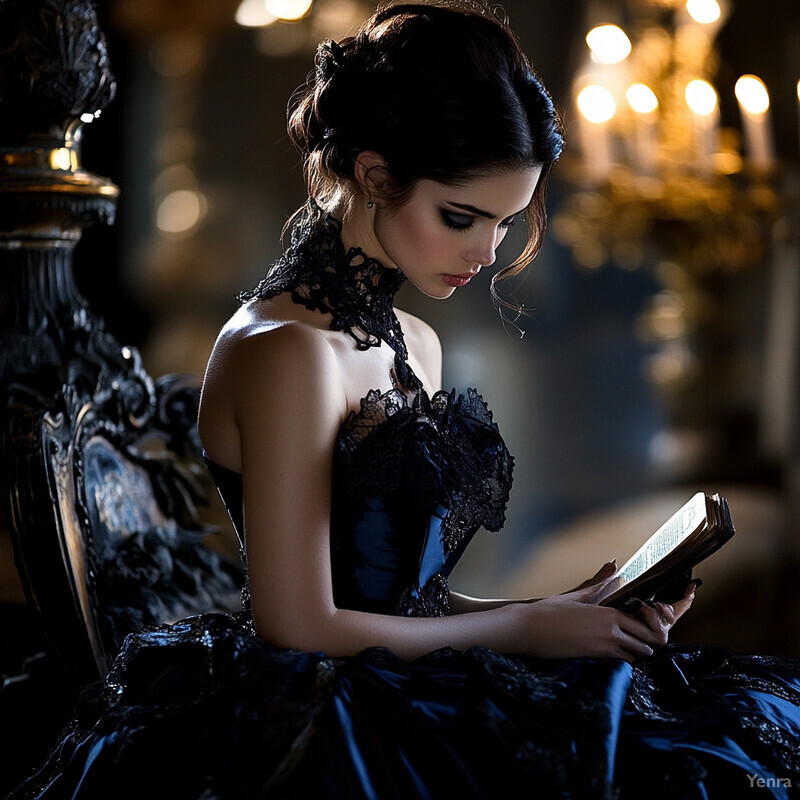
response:
<path id="1" fill-rule="evenodd" d="M 9 800 L 789 798 L 798 743 L 790 660 L 334 659 L 210 614 L 129 636 Z"/>

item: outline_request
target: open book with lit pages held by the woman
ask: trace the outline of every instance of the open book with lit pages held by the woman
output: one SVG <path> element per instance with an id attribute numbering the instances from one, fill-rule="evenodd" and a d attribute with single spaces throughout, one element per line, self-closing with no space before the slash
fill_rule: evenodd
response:
<path id="1" fill-rule="evenodd" d="M 633 597 L 668 603 L 679 600 L 692 568 L 733 534 L 725 498 L 698 492 L 617 570 L 600 605 L 618 608 Z"/>

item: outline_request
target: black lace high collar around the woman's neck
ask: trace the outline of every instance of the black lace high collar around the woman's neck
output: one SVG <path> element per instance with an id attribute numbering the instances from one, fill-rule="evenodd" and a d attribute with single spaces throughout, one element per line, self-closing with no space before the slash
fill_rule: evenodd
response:
<path id="1" fill-rule="evenodd" d="M 309 200 L 292 226 L 291 243 L 266 277 L 242 301 L 290 291 L 295 303 L 330 314 L 330 328 L 353 337 L 359 350 L 386 342 L 395 352 L 394 379 L 417 392 L 422 384 L 408 366 L 403 330 L 394 298 L 406 277 L 361 248 L 345 252 L 342 223 Z"/>

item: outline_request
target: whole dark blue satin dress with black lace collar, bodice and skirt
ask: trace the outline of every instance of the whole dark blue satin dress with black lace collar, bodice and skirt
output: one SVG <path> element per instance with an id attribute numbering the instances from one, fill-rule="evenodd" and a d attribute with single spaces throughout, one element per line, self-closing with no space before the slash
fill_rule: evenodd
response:
<path id="1" fill-rule="evenodd" d="M 476 392 L 421 391 L 392 309 L 398 273 L 345 253 L 310 203 L 253 296 L 292 291 L 360 349 L 395 351 L 411 391 L 369 393 L 335 443 L 335 602 L 445 615 L 470 539 L 502 527 L 513 460 Z M 209 469 L 241 533 L 241 476 Z M 245 591 L 241 614 L 129 635 L 11 798 L 789 798 L 799 749 L 794 661 L 681 645 L 633 665 L 482 647 L 329 658 L 260 639 Z"/>

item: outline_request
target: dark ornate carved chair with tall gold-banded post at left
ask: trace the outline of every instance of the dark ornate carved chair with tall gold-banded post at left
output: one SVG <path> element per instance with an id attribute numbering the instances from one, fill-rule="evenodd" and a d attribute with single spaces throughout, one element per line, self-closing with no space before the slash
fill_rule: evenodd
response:
<path id="1" fill-rule="evenodd" d="M 153 380 L 73 281 L 82 230 L 114 219 L 117 187 L 80 166 L 114 91 L 91 0 L 0 0 L 0 535 L 46 634 L 44 653 L 0 659 L 9 738 L 42 655 L 74 687 L 127 633 L 239 603 L 199 510 L 197 382 Z"/>

